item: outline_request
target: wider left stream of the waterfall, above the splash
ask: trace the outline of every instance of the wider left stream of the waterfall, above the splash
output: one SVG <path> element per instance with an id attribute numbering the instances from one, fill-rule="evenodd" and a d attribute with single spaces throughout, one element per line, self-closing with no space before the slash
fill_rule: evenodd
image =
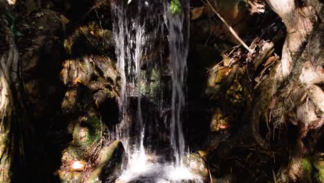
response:
<path id="1" fill-rule="evenodd" d="M 144 153 L 143 139 L 145 124 L 141 109 L 143 74 L 142 61 L 147 53 L 154 49 L 156 35 L 163 28 L 163 21 L 159 16 L 143 17 L 143 12 L 152 12 L 147 1 L 139 1 L 137 7 L 132 7 L 132 15 L 127 12 L 127 5 L 123 1 L 112 4 L 111 12 L 114 20 L 114 39 L 116 42 L 116 56 L 120 70 L 120 124 L 116 127 L 117 139 L 123 141 L 127 154 Z M 158 19 L 158 27 L 147 30 L 148 25 Z M 159 21 L 161 19 L 161 21 Z M 129 115 L 129 97 L 137 98 L 136 118 Z M 136 121 L 132 121 L 136 119 Z M 130 141 L 132 134 L 130 125 L 135 126 L 135 141 Z"/>

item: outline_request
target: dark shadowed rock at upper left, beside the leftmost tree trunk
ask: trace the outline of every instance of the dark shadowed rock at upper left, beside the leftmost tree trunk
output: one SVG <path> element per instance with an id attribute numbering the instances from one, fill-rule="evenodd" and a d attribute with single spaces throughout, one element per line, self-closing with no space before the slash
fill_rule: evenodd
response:
<path id="1" fill-rule="evenodd" d="M 37 10 L 24 19 L 33 24 L 19 24 L 24 36 L 17 38 L 21 52 L 21 74 L 33 116 L 40 118 L 55 113 L 60 107 L 63 87 L 58 79 L 64 61 L 64 32 L 59 13 Z"/>

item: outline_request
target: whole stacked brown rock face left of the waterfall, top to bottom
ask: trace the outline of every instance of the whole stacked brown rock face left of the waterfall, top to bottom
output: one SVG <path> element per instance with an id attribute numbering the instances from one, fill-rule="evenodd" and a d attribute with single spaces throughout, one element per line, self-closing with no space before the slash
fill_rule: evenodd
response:
<path id="1" fill-rule="evenodd" d="M 104 54 L 111 49 L 110 35 L 111 30 L 100 29 L 98 24 L 90 22 L 77 28 L 64 43 L 67 56 L 60 79 L 67 92 L 62 112 L 73 141 L 62 153 L 58 171 L 62 182 L 83 181 L 91 171 L 89 167 L 96 164 L 93 157 L 98 152 L 100 162 L 89 179 L 90 182 L 102 179 L 106 168 L 114 171 L 110 161 L 123 154 L 118 141 L 100 150 L 103 139 L 110 138 L 110 134 L 105 137 L 106 130 L 118 121 L 118 72 L 114 60 Z"/>

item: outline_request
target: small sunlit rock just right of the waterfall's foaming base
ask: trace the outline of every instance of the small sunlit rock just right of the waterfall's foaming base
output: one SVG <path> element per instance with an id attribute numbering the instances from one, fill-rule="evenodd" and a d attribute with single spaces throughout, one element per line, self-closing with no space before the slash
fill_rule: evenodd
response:
<path id="1" fill-rule="evenodd" d="M 184 164 L 190 168 L 190 171 L 206 179 L 208 177 L 208 167 L 204 162 L 204 159 L 197 153 L 191 153 L 189 157 L 183 160 Z"/>

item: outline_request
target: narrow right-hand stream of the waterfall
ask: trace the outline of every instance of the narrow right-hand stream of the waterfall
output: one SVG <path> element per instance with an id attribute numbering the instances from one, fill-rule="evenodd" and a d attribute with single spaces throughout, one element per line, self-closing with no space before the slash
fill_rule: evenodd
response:
<path id="1" fill-rule="evenodd" d="M 189 1 L 182 6 L 190 7 Z M 177 165 L 181 166 L 185 154 L 185 140 L 182 122 L 186 117 L 186 73 L 189 49 L 189 8 L 183 8 L 181 15 L 172 15 L 170 8 L 165 13 L 168 25 L 169 52 L 172 69 L 172 117 L 170 125 L 170 143 L 174 150 Z"/>

